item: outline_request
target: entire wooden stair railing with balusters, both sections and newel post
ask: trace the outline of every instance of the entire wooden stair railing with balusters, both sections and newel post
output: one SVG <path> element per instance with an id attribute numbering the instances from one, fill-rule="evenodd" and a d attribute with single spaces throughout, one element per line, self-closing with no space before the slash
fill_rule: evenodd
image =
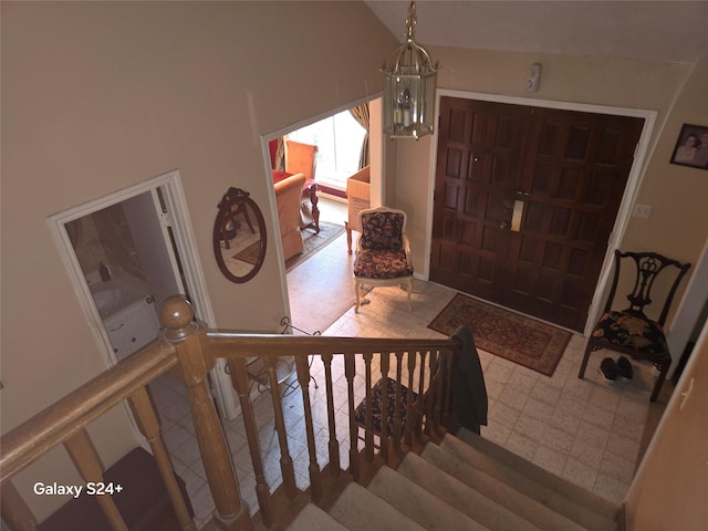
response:
<path id="1" fill-rule="evenodd" d="M 185 501 L 176 483 L 169 456 L 159 434 L 159 420 L 153 409 L 147 384 L 171 369 L 187 387 L 197 441 L 214 498 L 215 524 L 222 530 L 250 530 L 254 527 L 282 527 L 291 521 L 299 508 L 308 501 L 326 507 L 351 479 L 366 482 L 383 464 L 397 466 L 406 451 L 419 449 L 425 440 L 437 439 L 445 431 L 449 410 L 449 378 L 452 356 L 460 344 L 454 340 L 363 339 L 330 336 L 293 336 L 281 334 L 238 334 L 229 331 L 207 331 L 194 320 L 194 311 L 183 298 L 168 300 L 160 310 L 164 331 L 160 337 L 96 378 L 74 391 L 44 412 L 17 427 L 0 440 L 0 479 L 2 482 L 2 516 L 14 530 L 34 529 L 31 513 L 21 498 L 15 496 L 10 479 L 20 470 L 63 444 L 86 481 L 101 480 L 103 467 L 88 439 L 85 427 L 108 409 L 127 399 L 138 427 L 155 455 L 158 468 L 183 530 L 195 530 Z M 392 356 L 393 355 L 393 356 Z M 311 404 L 310 356 L 323 364 L 329 465 L 321 466 L 317 454 Z M 258 436 L 257 418 L 249 396 L 247 361 L 263 360 L 269 377 L 274 428 L 280 445 L 282 487 L 271 494 L 267 483 L 264 464 Z M 277 364 L 279 358 L 293 358 L 302 395 L 308 440 L 306 492 L 295 486 L 293 459 L 288 445 L 288 430 L 283 403 L 279 392 Z M 372 362 L 378 358 L 382 382 L 395 364 L 395 407 L 393 419 L 386 414 L 381 419 L 383 429 L 375 433 L 372 417 L 373 379 L 376 375 Z M 250 517 L 241 499 L 238 478 L 231 462 L 223 427 L 218 417 L 208 386 L 208 374 L 217 358 L 227 361 L 233 388 L 239 397 L 241 417 L 248 439 L 259 513 Z M 346 410 L 348 412 L 350 467 L 342 470 L 337 439 L 337 404 L 335 403 L 334 362 L 343 358 L 346 379 Z M 427 360 L 427 364 L 426 364 Z M 357 366 L 363 363 L 363 375 Z M 404 382 L 405 376 L 407 382 Z M 442 368 L 446 367 L 447 371 Z M 361 378 L 364 385 L 361 388 Z M 404 385 L 407 400 L 402 402 Z M 418 399 L 414 402 L 413 393 Z M 358 393 L 357 393 L 358 389 Z M 364 394 L 365 421 L 355 419 L 357 399 Z M 389 397 L 382 393 L 381 407 L 389 410 Z M 340 409 L 344 407 L 341 406 Z M 405 415 L 404 415 L 405 410 Z M 404 420 L 405 419 L 405 420 Z M 363 425 L 362 425 L 363 424 Z M 393 424 L 393 433 L 386 427 Z M 360 429 L 363 450 L 360 451 Z M 376 454 L 375 438 L 378 438 Z M 126 529 L 110 497 L 102 497 L 102 509 L 114 530 Z M 28 516 L 29 514 L 29 516 Z M 11 523 L 12 522 L 12 523 Z M 257 522 L 257 523 L 254 523 Z M 284 528 L 283 528 L 284 529 Z"/>

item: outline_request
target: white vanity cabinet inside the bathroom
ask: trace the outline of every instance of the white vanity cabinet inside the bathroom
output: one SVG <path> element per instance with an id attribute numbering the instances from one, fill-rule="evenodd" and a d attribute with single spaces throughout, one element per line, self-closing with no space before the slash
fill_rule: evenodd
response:
<path id="1" fill-rule="evenodd" d="M 134 302 L 104 321 L 108 339 L 118 361 L 157 337 L 159 321 L 150 298 Z"/>

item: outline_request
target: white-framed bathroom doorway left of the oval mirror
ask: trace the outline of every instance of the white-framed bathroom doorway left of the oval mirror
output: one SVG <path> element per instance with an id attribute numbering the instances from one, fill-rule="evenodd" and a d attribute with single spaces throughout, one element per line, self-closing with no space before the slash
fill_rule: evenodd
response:
<path id="1" fill-rule="evenodd" d="M 196 316 L 214 326 L 177 170 L 48 222 L 107 367 L 157 336 L 159 305 L 174 294 L 185 294 Z M 215 367 L 210 382 L 220 414 L 233 418 L 223 367 Z"/>

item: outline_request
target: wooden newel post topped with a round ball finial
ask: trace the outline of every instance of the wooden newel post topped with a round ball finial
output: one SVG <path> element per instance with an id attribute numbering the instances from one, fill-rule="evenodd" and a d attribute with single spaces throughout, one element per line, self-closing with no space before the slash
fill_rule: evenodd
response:
<path id="1" fill-rule="evenodd" d="M 205 348 L 206 330 L 194 316 L 191 304 L 176 295 L 163 304 L 159 322 L 165 329 L 165 340 L 177 350 L 179 363 L 175 371 L 187 386 L 197 441 L 216 504 L 215 523 L 227 531 L 252 530 L 253 523 L 248 507 L 241 501 L 231 457 L 207 382 L 214 360 Z"/>

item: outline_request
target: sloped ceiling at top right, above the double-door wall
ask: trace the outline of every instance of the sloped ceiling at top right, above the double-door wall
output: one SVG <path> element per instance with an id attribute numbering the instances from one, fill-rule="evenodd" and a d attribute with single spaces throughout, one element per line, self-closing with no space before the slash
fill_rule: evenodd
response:
<path id="1" fill-rule="evenodd" d="M 404 39 L 408 0 L 366 0 Z M 478 50 L 708 61 L 708 1 L 418 0 L 416 41 Z"/>

